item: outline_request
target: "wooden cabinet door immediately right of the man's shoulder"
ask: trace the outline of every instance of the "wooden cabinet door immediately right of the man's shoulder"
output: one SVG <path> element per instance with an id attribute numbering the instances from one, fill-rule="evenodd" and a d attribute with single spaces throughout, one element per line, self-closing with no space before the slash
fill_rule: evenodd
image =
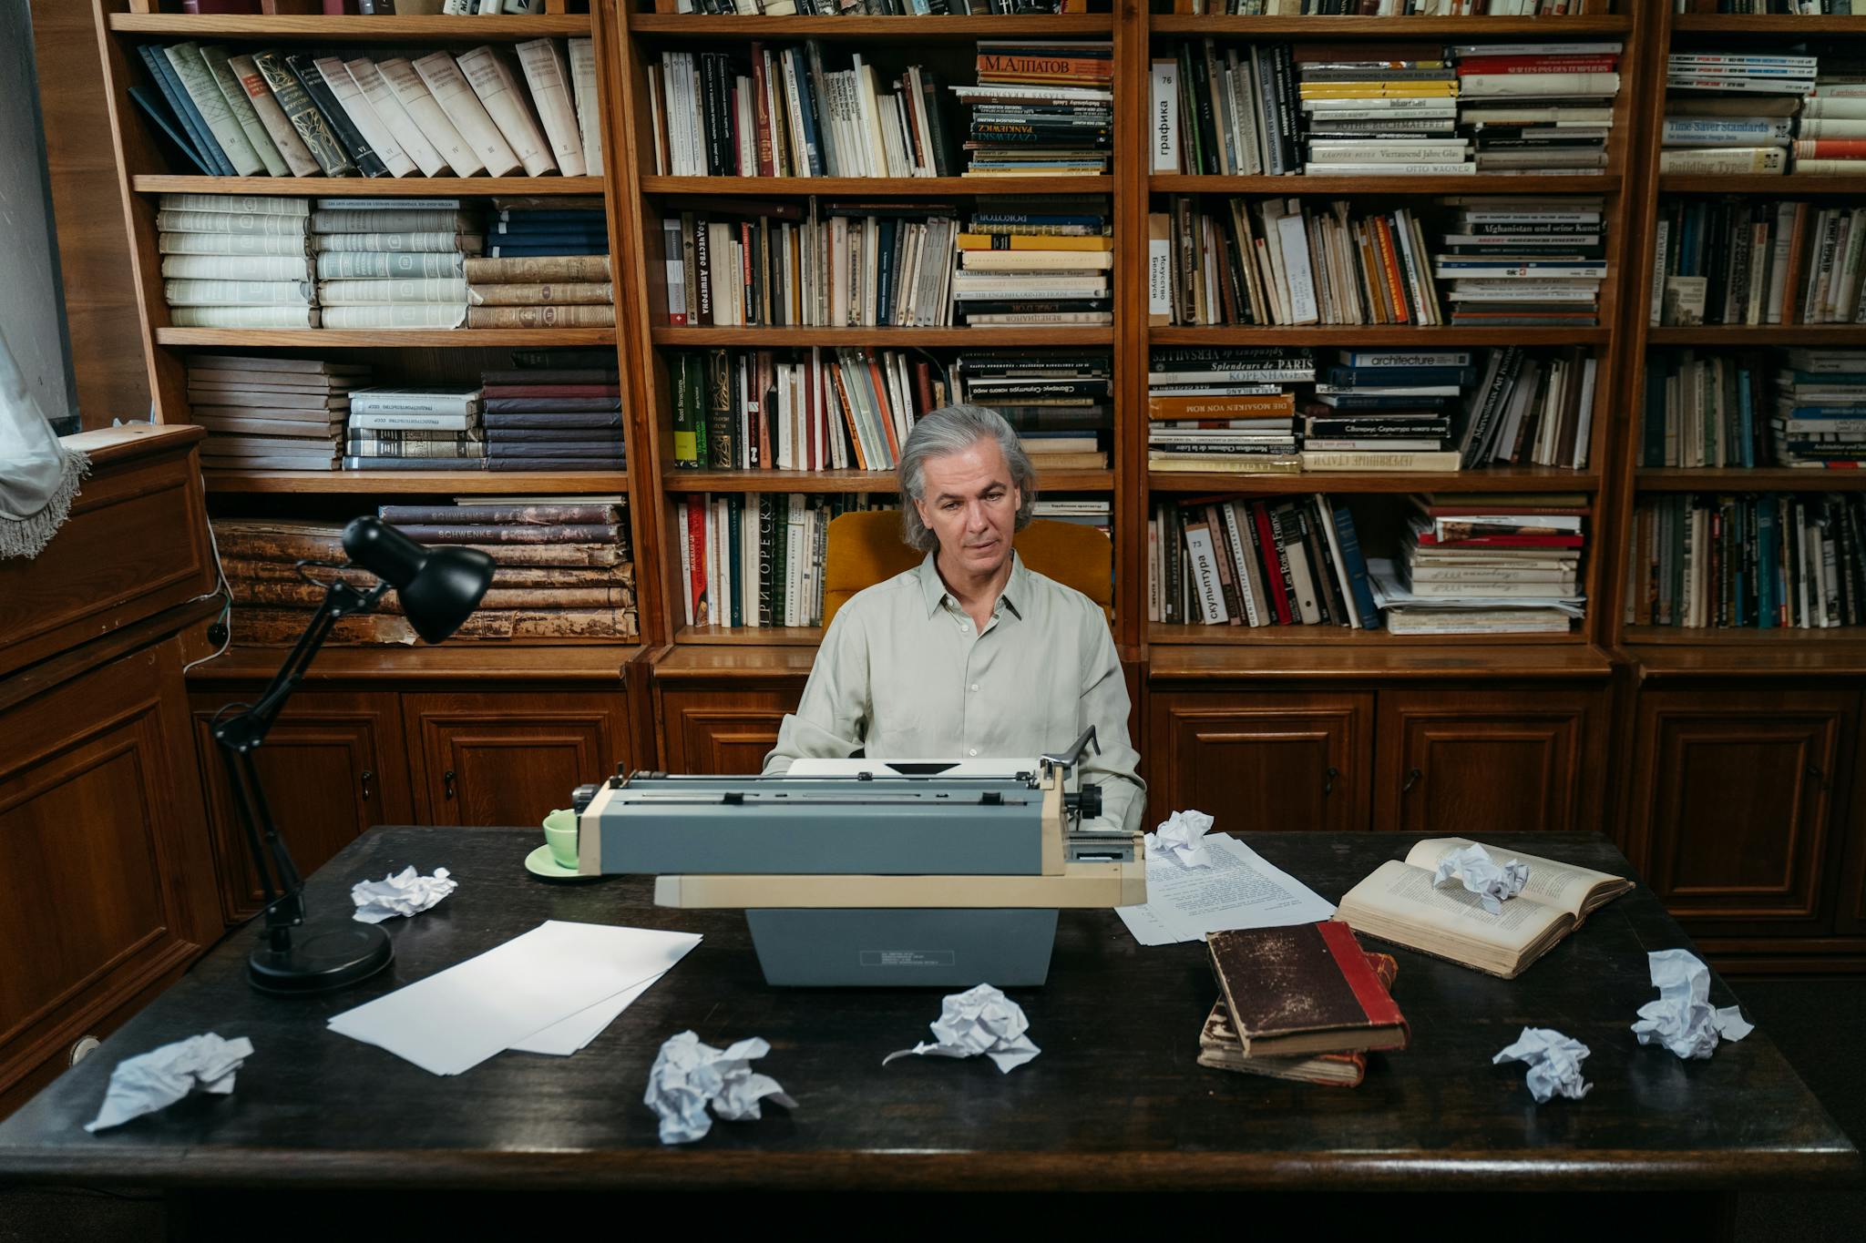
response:
<path id="1" fill-rule="evenodd" d="M 1196 807 L 1222 833 L 1368 827 L 1373 695 L 1155 691 L 1146 824 Z"/>

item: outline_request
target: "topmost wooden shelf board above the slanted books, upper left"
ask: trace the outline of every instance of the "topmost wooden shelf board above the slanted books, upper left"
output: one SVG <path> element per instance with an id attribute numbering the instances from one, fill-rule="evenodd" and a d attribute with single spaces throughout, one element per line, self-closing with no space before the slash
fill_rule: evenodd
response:
<path id="1" fill-rule="evenodd" d="M 267 43 L 313 39 L 317 43 L 522 43 L 588 35 L 588 13 L 541 17 L 243 17 L 188 13 L 108 13 L 106 30 L 125 35 L 174 39 L 259 39 Z"/>

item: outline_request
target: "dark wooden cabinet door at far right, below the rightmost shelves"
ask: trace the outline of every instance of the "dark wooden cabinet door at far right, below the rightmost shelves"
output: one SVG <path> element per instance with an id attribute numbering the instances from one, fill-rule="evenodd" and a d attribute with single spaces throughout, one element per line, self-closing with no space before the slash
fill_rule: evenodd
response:
<path id="1" fill-rule="evenodd" d="M 1627 854 L 1694 934 L 1832 924 L 1855 712 L 1857 695 L 1832 690 L 1640 693 Z"/>

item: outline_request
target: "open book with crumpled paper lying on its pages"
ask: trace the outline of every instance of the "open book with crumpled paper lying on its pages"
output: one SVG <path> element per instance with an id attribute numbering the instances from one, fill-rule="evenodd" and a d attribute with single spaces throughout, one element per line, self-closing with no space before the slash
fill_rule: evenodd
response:
<path id="1" fill-rule="evenodd" d="M 1463 837 L 1427 837 L 1413 846 L 1405 863 L 1388 859 L 1349 889 L 1334 917 L 1355 932 L 1510 980 L 1594 909 L 1633 887 L 1607 872 L 1485 846 L 1498 863 L 1521 859 L 1528 865 L 1523 893 L 1491 915 L 1461 883 L 1444 889 L 1431 883 L 1439 859 L 1470 844 Z"/>

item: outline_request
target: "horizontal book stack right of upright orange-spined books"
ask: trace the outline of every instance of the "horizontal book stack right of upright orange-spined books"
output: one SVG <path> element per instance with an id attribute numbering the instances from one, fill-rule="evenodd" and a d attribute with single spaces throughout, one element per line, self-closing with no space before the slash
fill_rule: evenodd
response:
<path id="1" fill-rule="evenodd" d="M 1607 280 L 1597 198 L 1455 198 L 1433 272 L 1457 326 L 1588 328 Z"/>

